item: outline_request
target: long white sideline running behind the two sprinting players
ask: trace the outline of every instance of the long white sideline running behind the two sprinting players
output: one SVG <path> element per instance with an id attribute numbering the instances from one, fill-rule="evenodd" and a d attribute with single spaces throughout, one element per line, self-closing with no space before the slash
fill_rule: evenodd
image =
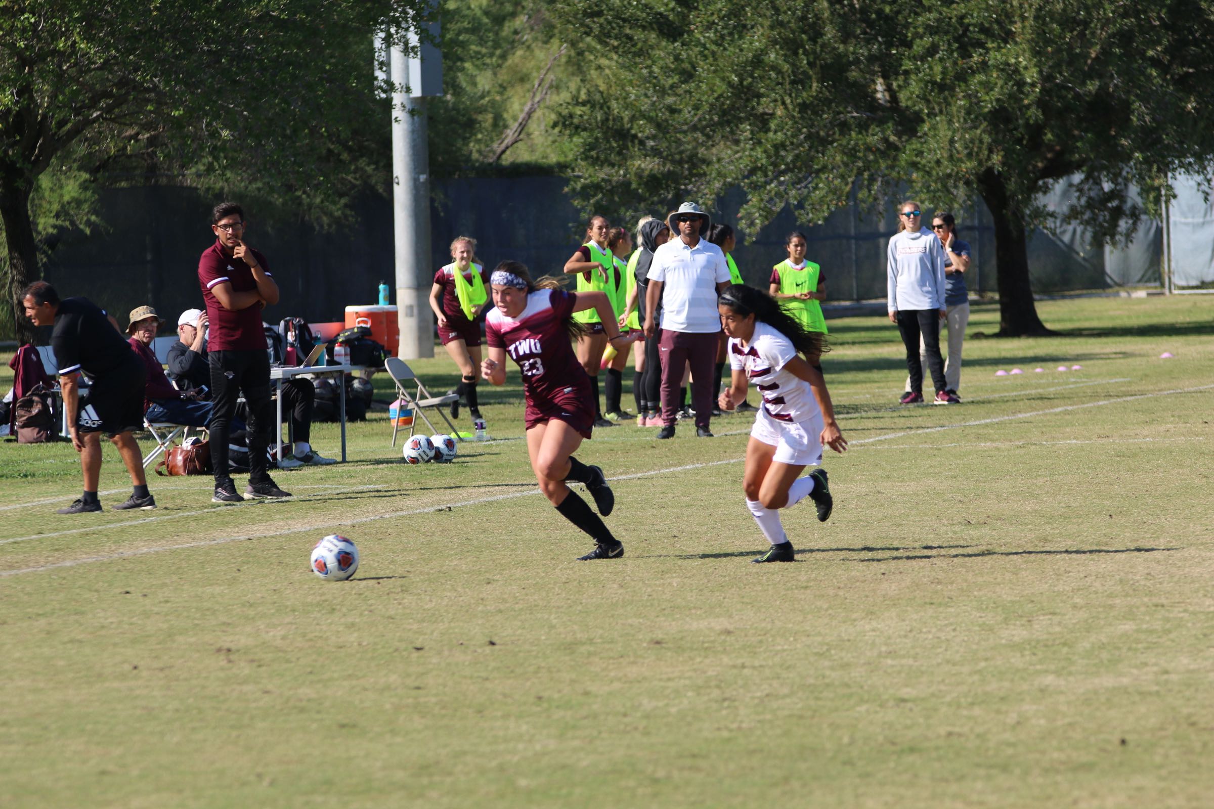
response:
<path id="1" fill-rule="evenodd" d="M 1067 411 L 1071 411 L 1071 410 L 1083 410 L 1085 408 L 1100 408 L 1100 406 L 1110 405 L 1110 404 L 1121 404 L 1123 401 L 1136 401 L 1136 400 L 1140 400 L 1140 399 L 1153 399 L 1156 397 L 1167 397 L 1167 395 L 1173 395 L 1173 394 L 1176 394 L 1176 393 L 1196 393 L 1198 391 L 1209 391 L 1209 389 L 1214 389 L 1214 384 L 1202 384 L 1202 386 L 1193 387 L 1193 388 L 1174 388 L 1172 391 L 1158 391 L 1156 393 L 1140 393 L 1140 394 L 1131 395 L 1131 397 L 1118 397 L 1116 399 L 1105 399 L 1102 401 L 1090 401 L 1090 403 L 1079 404 L 1079 405 L 1066 405 L 1066 406 L 1062 406 L 1062 408 L 1050 408 L 1049 410 L 1037 410 L 1037 411 L 1033 411 L 1033 412 L 1014 414 L 1014 415 L 1010 415 L 1010 416 L 998 416 L 998 417 L 993 417 L 993 418 L 980 418 L 980 420 L 976 420 L 976 421 L 964 422 L 964 423 L 959 423 L 959 425 L 944 425 L 944 426 L 941 426 L 941 427 L 926 427 L 926 428 L 915 429 L 915 431 L 903 431 L 903 432 L 900 432 L 900 433 L 890 433 L 887 435 L 874 435 L 872 438 L 862 438 L 862 439 L 857 439 L 857 440 L 850 441 L 850 443 L 851 444 L 868 444 L 868 443 L 873 443 L 873 441 L 886 440 L 886 439 L 890 439 L 890 438 L 901 438 L 903 435 L 912 435 L 912 434 L 919 434 L 919 433 L 935 433 L 935 432 L 941 432 L 941 431 L 944 431 L 944 429 L 958 429 L 960 427 L 978 427 L 978 426 L 982 426 L 982 425 L 993 425 L 993 423 L 998 423 L 998 422 L 1003 422 L 1003 421 L 1012 421 L 1012 420 L 1016 420 L 1016 418 L 1032 418 L 1033 416 L 1044 416 L 1044 415 L 1050 415 L 1050 414 L 1056 414 L 1056 412 L 1067 412 Z M 698 469 L 698 468 L 704 468 L 704 467 L 710 467 L 710 466 L 724 466 L 724 465 L 728 465 L 728 463 L 741 463 L 743 460 L 744 458 L 739 457 L 739 458 L 728 458 L 728 460 L 725 460 L 725 461 L 711 461 L 711 462 L 708 462 L 708 463 L 687 463 L 685 466 L 670 467 L 668 469 L 653 469 L 651 472 L 637 472 L 637 473 L 634 473 L 634 474 L 619 475 L 619 477 L 609 478 L 609 479 L 611 480 L 626 480 L 626 479 L 651 477 L 651 475 L 656 475 L 656 474 L 670 474 L 673 472 L 685 472 L 685 471 L 688 471 L 688 469 Z M 476 498 L 472 498 L 472 500 L 463 500 L 463 501 L 456 501 L 456 502 L 452 502 L 452 503 L 441 503 L 441 505 L 437 505 L 437 506 L 426 506 L 426 507 L 422 507 L 422 508 L 410 508 L 410 509 L 407 509 L 407 511 L 390 512 L 390 513 L 386 513 L 386 514 L 374 514 L 371 517 L 362 517 L 362 518 L 352 519 L 352 520 L 325 522 L 325 523 L 316 523 L 316 524 L 310 524 L 310 525 L 296 525 L 294 528 L 280 529 L 280 530 L 277 530 L 277 531 L 266 531 L 266 532 L 261 532 L 261 534 L 245 534 L 243 536 L 225 536 L 225 537 L 219 537 L 219 539 L 214 539 L 214 540 L 204 540 L 204 541 L 200 541 L 200 542 L 186 542 L 186 543 L 182 543 L 182 545 L 170 545 L 170 546 L 154 547 L 154 548 L 142 548 L 142 549 L 138 549 L 138 551 L 126 551 L 126 552 L 112 553 L 112 554 L 108 554 L 108 556 L 86 557 L 86 558 L 83 558 L 83 559 L 68 559 L 68 560 L 64 560 L 64 562 L 56 562 L 56 563 L 47 564 L 47 565 L 39 565 L 39 566 L 35 566 L 35 568 L 21 568 L 21 569 L 16 569 L 16 570 L 0 570 L 0 577 L 17 576 L 17 575 L 21 575 L 21 574 L 27 574 L 27 572 L 41 572 L 44 570 L 55 570 L 57 568 L 74 568 L 76 565 L 89 564 L 89 563 L 93 563 L 93 562 L 113 562 L 115 559 L 126 559 L 126 558 L 131 558 L 131 557 L 144 556 L 144 554 L 148 554 L 148 553 L 160 553 L 160 552 L 164 552 L 164 551 L 185 551 L 185 549 L 189 549 L 189 548 L 203 548 L 203 547 L 209 547 L 209 546 L 214 546 L 214 545 L 226 545 L 226 543 L 229 543 L 229 542 L 242 542 L 242 541 L 253 540 L 253 539 L 265 539 L 265 537 L 272 537 L 272 536 L 285 536 L 288 534 L 299 534 L 301 531 L 314 531 L 318 528 L 334 528 L 334 526 L 339 526 L 339 525 L 361 525 L 363 523 L 373 523 L 373 522 L 381 520 L 381 519 L 395 519 L 395 518 L 398 518 L 398 517 L 410 517 L 410 515 L 414 515 L 414 514 L 426 514 L 426 513 L 432 513 L 432 512 L 450 511 L 453 508 L 463 508 L 465 506 L 478 506 L 481 503 L 498 502 L 498 501 L 503 501 L 503 500 L 514 500 L 516 497 L 529 497 L 529 496 L 534 496 L 534 495 L 538 495 L 538 494 L 539 494 L 538 489 L 529 489 L 527 491 L 512 491 L 512 492 L 509 492 L 509 494 L 505 494 L 505 495 L 494 495 L 494 496 L 490 496 L 490 497 L 476 497 Z M 146 520 L 136 520 L 136 522 L 146 522 Z M 47 535 L 41 535 L 41 536 L 47 536 Z M 39 539 L 39 537 L 35 536 L 35 537 L 29 537 L 29 539 Z"/>

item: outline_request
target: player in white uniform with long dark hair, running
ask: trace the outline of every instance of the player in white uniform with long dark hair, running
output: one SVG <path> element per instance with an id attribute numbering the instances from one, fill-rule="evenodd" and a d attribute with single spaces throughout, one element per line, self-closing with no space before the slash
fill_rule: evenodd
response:
<path id="1" fill-rule="evenodd" d="M 836 452 L 847 449 L 822 372 L 801 357 L 817 355 L 822 337 L 806 331 L 770 295 L 742 284 L 721 294 L 717 311 L 730 337 L 732 370 L 731 386 L 721 393 L 721 409 L 733 410 L 734 401 L 743 401 L 751 382 L 762 395 L 747 445 L 742 488 L 747 507 L 771 547 L 753 562 L 792 562 L 793 543 L 784 534 L 779 509 L 809 496 L 817 506 L 818 520 L 826 522 L 834 507 L 826 469 L 800 475 L 805 467 L 822 463 L 823 446 Z"/>

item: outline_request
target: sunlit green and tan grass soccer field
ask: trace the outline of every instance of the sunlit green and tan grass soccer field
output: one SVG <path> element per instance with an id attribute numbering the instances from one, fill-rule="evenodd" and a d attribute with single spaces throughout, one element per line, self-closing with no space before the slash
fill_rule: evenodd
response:
<path id="1" fill-rule="evenodd" d="M 1214 301 L 1039 311 L 974 307 L 951 408 L 894 404 L 887 321 L 830 321 L 852 449 L 828 523 L 784 512 L 796 564 L 749 564 L 741 415 L 597 431 L 628 551 L 574 562 L 515 369 L 499 440 L 410 468 L 376 412 L 277 503 L 61 517 L 70 445 L 0 444 L 0 805 L 1208 807 Z M 350 582 L 307 569 L 331 532 Z"/>

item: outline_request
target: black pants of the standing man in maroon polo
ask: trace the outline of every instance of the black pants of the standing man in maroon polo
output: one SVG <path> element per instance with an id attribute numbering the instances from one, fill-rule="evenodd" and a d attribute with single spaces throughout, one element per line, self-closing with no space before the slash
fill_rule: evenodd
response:
<path id="1" fill-rule="evenodd" d="M 938 353 L 938 352 L 937 352 Z M 248 409 L 249 480 L 260 483 L 267 474 L 270 433 L 274 411 L 270 403 L 270 357 L 263 348 L 210 351 L 211 364 L 211 466 L 216 485 L 228 474 L 228 437 L 236 400 L 244 393 Z"/>

